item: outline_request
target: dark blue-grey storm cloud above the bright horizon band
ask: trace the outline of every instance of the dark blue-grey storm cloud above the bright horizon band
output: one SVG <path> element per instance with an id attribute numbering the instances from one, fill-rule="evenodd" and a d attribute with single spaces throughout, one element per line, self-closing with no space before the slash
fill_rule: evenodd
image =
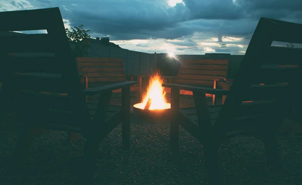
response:
<path id="1" fill-rule="evenodd" d="M 22 1 L 10 1 L 25 9 Z M 252 34 L 260 17 L 302 22 L 300 0 L 183 0 L 169 7 L 164 0 L 33 0 L 37 8 L 60 7 L 70 26 L 84 25 L 111 40 L 177 39 L 195 32 L 223 36 Z"/>

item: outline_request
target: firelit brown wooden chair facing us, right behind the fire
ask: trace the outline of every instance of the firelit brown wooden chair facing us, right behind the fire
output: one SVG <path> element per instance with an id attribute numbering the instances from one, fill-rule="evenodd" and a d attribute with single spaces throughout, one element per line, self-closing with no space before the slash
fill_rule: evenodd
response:
<path id="1" fill-rule="evenodd" d="M 196 85 L 201 87 L 218 89 L 220 82 L 232 81 L 226 79 L 229 68 L 229 60 L 224 59 L 183 59 L 177 76 L 163 76 L 167 83 Z M 166 87 L 165 91 L 171 93 L 171 89 Z M 180 94 L 193 95 L 192 91 L 180 89 Z M 212 97 L 212 104 L 216 104 L 215 94 L 206 94 Z"/>

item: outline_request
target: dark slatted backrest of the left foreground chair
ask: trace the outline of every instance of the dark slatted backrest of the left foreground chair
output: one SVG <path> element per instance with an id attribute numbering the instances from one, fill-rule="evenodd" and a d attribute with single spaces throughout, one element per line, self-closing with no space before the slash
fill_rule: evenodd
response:
<path id="1" fill-rule="evenodd" d="M 11 91 L 19 92 L 71 93 L 82 88 L 58 8 L 1 12 L 0 20 L 0 31 L 47 31 L 1 37 L 0 80 L 4 86 L 10 84 Z"/>

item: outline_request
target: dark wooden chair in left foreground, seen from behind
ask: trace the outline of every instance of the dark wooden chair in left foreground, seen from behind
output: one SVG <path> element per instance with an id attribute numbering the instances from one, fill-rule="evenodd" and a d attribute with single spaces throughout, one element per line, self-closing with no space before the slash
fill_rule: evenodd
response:
<path id="1" fill-rule="evenodd" d="M 79 132 L 86 138 L 82 177 L 92 175 L 99 142 L 120 122 L 123 146 L 130 147 L 129 95 L 130 86 L 137 82 L 85 90 L 77 61 L 71 57 L 59 8 L 0 12 L 0 21 L 0 31 L 48 33 L 1 37 L 0 105 L 3 110 L 6 102 L 15 102 L 22 122 L 11 168 L 17 169 L 26 159 L 30 143 L 47 130 Z M 116 89 L 122 89 L 122 106 L 109 105 Z M 100 95 L 98 104 L 87 104 L 86 95 Z"/>

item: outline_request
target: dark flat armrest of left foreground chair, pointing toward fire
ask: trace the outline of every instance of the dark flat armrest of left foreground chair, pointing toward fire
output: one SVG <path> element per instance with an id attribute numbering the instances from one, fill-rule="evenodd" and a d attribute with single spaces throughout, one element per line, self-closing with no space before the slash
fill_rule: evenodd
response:
<path id="1" fill-rule="evenodd" d="M 104 86 L 85 89 L 82 90 L 82 92 L 84 93 L 84 95 L 89 95 L 89 96 L 100 95 L 103 94 L 104 92 L 113 91 L 121 88 L 127 88 L 137 84 L 138 84 L 137 82 L 133 82 L 133 81 L 118 82 L 114 84 L 108 84 Z"/>

